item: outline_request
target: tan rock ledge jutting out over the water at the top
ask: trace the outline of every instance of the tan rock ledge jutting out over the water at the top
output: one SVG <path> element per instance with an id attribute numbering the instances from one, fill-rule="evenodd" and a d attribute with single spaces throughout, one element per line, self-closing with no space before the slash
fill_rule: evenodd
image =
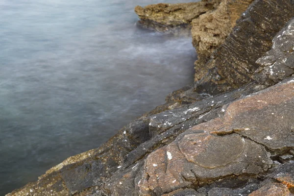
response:
<path id="1" fill-rule="evenodd" d="M 159 32 L 175 33 L 183 27 L 191 28 L 193 19 L 214 9 L 220 0 L 203 0 L 190 3 L 158 3 L 146 7 L 136 6 L 135 12 L 141 19 L 138 24 Z"/>

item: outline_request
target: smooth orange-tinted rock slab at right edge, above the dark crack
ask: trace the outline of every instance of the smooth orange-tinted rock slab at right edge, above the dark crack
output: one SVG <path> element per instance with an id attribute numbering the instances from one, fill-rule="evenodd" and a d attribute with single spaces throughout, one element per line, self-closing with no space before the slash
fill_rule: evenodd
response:
<path id="1" fill-rule="evenodd" d="M 221 118 L 192 127 L 214 134 L 239 133 L 270 149 L 294 147 L 294 81 L 235 101 Z"/>

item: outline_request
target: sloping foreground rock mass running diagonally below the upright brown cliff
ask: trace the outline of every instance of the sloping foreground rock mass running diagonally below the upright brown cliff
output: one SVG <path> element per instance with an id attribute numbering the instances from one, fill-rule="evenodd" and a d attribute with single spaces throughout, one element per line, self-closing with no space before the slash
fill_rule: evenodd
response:
<path id="1" fill-rule="evenodd" d="M 276 181 L 291 193 L 294 77 L 265 87 L 138 119 L 8 196 L 248 195 Z"/>

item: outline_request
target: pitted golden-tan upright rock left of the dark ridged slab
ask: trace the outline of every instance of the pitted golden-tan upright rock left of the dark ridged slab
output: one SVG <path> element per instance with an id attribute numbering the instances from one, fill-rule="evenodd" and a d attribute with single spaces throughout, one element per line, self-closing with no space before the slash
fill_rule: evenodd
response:
<path id="1" fill-rule="evenodd" d="M 217 49 L 236 25 L 237 19 L 253 0 L 222 0 L 214 10 L 192 21 L 192 39 L 198 60 L 195 62 L 195 80 L 200 80 L 208 70 L 207 59 Z"/>

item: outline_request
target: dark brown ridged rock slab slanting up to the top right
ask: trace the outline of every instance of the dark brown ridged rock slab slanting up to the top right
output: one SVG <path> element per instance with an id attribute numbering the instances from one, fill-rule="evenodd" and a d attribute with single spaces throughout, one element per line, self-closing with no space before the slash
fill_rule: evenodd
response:
<path id="1" fill-rule="evenodd" d="M 206 74 L 195 83 L 195 91 L 216 95 L 253 81 L 259 67 L 256 60 L 270 50 L 273 37 L 293 16 L 294 4 L 289 0 L 251 3 L 224 43 L 202 65 L 206 71 L 201 72 Z"/>

